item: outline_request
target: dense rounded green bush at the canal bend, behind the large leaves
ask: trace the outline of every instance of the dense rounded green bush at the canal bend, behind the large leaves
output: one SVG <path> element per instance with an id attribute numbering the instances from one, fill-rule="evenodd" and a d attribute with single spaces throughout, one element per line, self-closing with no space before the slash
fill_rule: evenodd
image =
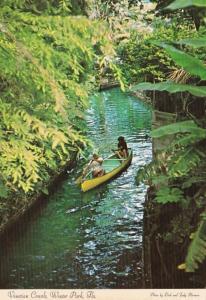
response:
<path id="1" fill-rule="evenodd" d="M 142 81 L 159 82 L 165 80 L 171 73 L 179 70 L 177 64 L 158 41 L 167 41 L 197 36 L 196 31 L 186 25 L 179 25 L 174 20 L 171 23 L 158 20 L 147 32 L 135 31 L 128 41 L 119 47 L 123 74 L 128 83 Z M 156 43 L 154 42 L 156 41 Z M 121 66 L 121 65 L 120 65 Z"/>

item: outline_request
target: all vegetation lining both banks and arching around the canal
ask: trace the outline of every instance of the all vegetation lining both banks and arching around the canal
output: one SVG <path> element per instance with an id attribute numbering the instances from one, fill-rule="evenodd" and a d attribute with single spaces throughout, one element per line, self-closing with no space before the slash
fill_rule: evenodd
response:
<path id="1" fill-rule="evenodd" d="M 160 282 L 151 271 L 152 288 L 204 287 L 205 277 L 206 4 L 180 2 L 0 4 L 1 224 L 34 192 L 46 194 L 72 153 L 84 155 L 88 95 L 104 84 L 132 86 L 162 117 L 153 161 L 137 170 L 137 184 L 152 191 L 145 259 L 154 270 L 153 251 L 166 274 Z"/>

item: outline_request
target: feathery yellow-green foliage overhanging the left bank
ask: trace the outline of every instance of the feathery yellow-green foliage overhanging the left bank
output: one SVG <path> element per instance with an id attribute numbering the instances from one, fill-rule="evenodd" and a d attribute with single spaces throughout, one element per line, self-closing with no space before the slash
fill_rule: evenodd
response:
<path id="1" fill-rule="evenodd" d="M 114 50 L 102 22 L 69 15 L 77 7 L 1 1 L 1 224 L 34 192 L 46 192 L 51 176 L 87 143 L 88 93 Z"/>

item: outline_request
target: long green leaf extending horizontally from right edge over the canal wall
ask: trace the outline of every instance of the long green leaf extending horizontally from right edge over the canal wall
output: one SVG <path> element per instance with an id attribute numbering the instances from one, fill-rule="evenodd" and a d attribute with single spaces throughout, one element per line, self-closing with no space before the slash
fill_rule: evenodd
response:
<path id="1" fill-rule="evenodd" d="M 172 82 L 149 83 L 143 82 L 135 85 L 132 91 L 151 90 L 151 91 L 167 91 L 170 93 L 189 92 L 197 97 L 206 97 L 206 86 L 193 86 L 189 84 L 178 84 Z"/>

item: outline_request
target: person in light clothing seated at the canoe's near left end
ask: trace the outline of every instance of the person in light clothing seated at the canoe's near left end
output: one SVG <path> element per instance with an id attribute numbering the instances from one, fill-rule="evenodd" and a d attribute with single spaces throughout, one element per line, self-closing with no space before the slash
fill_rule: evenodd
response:
<path id="1" fill-rule="evenodd" d="M 105 170 L 102 167 L 103 158 L 96 153 L 93 154 L 91 161 L 83 171 L 83 176 L 92 172 L 92 177 L 100 177 L 105 174 Z"/>

